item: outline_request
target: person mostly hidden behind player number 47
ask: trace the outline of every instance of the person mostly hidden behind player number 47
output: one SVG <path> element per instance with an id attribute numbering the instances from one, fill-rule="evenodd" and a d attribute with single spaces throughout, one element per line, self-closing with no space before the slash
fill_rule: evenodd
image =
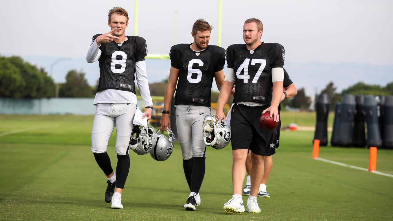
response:
<path id="1" fill-rule="evenodd" d="M 285 90 L 283 91 L 283 94 L 281 95 L 281 101 L 283 101 L 285 98 L 292 98 L 298 93 L 298 90 L 296 89 L 294 83 L 290 79 L 288 72 L 286 72 L 284 68 L 284 83 L 283 87 Z M 278 105 L 278 115 L 280 116 L 280 110 L 281 110 L 281 103 Z M 280 138 L 280 129 L 281 129 L 281 119 L 278 122 L 278 125 L 276 127 L 277 130 L 277 144 L 275 145 L 275 148 L 279 147 L 279 138 Z M 266 191 L 266 182 L 268 181 L 270 171 L 272 170 L 272 165 L 273 165 L 273 157 L 272 156 L 265 156 L 264 158 L 264 172 L 263 172 L 263 178 L 261 181 L 261 184 L 259 185 L 259 190 L 258 190 L 258 197 L 270 197 L 270 194 Z M 250 151 L 248 152 L 247 159 L 246 159 L 246 171 L 247 171 L 247 180 L 246 180 L 246 185 L 244 186 L 243 189 L 243 195 L 250 195 L 250 186 L 251 186 L 251 166 L 252 166 L 252 161 L 251 161 L 251 155 Z"/>

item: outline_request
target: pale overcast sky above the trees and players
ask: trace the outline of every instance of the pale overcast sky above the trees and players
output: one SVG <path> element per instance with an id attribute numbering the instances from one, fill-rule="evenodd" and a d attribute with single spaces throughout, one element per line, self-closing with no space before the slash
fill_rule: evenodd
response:
<path id="1" fill-rule="evenodd" d="M 107 15 L 114 6 L 129 12 L 126 35 L 134 35 L 134 0 L 1 1 L 0 54 L 52 56 L 48 64 L 59 57 L 70 57 L 73 60 L 67 65 L 72 66 L 77 58 L 84 58 L 93 35 L 110 31 Z M 191 28 L 198 18 L 213 25 L 210 44 L 217 44 L 218 0 L 139 0 L 138 9 L 138 35 L 147 40 L 149 54 L 168 54 L 173 44 L 191 43 Z M 255 17 L 264 24 L 262 41 L 285 47 L 288 68 L 304 63 L 333 64 L 333 69 L 339 63 L 391 68 L 391 11 L 390 0 L 222 0 L 221 46 L 244 43 L 244 20 Z M 37 66 L 47 68 L 48 64 Z M 148 65 L 159 66 L 155 60 Z M 169 74 L 166 66 L 162 73 Z M 352 75 L 357 72 L 353 70 Z M 299 85 L 302 80 L 298 79 Z"/>

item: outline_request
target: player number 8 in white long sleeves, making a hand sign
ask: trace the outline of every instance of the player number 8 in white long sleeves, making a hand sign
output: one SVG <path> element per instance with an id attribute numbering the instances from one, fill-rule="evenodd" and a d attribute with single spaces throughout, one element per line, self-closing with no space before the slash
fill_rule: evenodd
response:
<path id="1" fill-rule="evenodd" d="M 128 13 L 121 7 L 114 7 L 108 13 L 110 30 L 105 34 L 93 36 L 86 61 L 98 60 L 100 68 L 99 84 L 95 94 L 96 111 L 92 127 L 92 151 L 98 166 L 107 176 L 105 202 L 112 202 L 111 208 L 122 209 L 121 193 L 130 169 L 129 143 L 133 119 L 137 108 L 135 83 L 141 92 L 143 103 L 147 106 L 143 118 L 149 121 L 152 112 L 152 99 L 147 82 L 145 39 L 126 36 Z M 108 140 L 116 125 L 117 154 L 116 173 L 107 154 Z"/>

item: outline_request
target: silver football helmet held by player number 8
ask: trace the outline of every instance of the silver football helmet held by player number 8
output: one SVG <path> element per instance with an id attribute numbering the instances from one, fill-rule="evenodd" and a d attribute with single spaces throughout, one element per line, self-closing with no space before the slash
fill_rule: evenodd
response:
<path id="1" fill-rule="evenodd" d="M 130 149 L 138 155 L 144 155 L 156 145 L 157 135 L 153 127 L 143 127 L 135 124 L 130 138 Z"/>

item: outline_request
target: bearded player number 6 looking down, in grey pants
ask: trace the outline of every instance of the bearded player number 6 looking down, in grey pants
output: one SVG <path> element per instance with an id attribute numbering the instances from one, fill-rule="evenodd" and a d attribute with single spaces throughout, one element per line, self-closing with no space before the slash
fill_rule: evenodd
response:
<path id="1" fill-rule="evenodd" d="M 190 211 L 200 204 L 199 190 L 205 175 L 206 145 L 202 126 L 205 116 L 210 115 L 213 77 L 219 90 L 224 82 L 226 53 L 224 48 L 208 45 L 212 28 L 205 20 L 198 19 L 191 33 L 193 43 L 172 46 L 171 70 L 160 120 L 162 130 L 171 127 L 169 107 L 176 91 L 176 127 L 190 190 L 184 207 Z"/>

